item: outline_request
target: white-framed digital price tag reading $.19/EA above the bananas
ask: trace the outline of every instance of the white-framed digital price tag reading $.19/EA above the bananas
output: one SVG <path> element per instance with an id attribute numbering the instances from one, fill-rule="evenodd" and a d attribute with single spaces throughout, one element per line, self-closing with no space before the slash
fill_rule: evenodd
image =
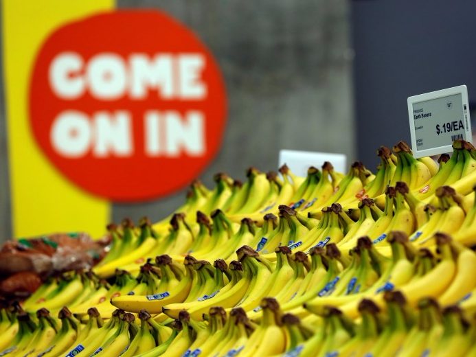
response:
<path id="1" fill-rule="evenodd" d="M 466 86 L 413 95 L 407 104 L 413 157 L 452 152 L 456 139 L 473 143 Z"/>

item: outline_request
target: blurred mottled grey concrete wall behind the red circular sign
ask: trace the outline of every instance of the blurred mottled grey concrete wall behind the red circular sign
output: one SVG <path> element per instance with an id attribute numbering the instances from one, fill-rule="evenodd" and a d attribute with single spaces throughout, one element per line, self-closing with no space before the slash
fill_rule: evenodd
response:
<path id="1" fill-rule="evenodd" d="M 280 149 L 341 152 L 349 161 L 356 159 L 348 1 L 117 0 L 117 8 L 168 12 L 194 30 L 216 57 L 229 115 L 222 150 L 200 178 L 208 187 L 216 172 L 245 180 L 249 166 L 277 170 Z M 5 239 L 11 225 L 3 111 L 0 132 Z M 184 201 L 185 191 L 148 203 L 114 204 L 112 220 L 159 220 Z"/>

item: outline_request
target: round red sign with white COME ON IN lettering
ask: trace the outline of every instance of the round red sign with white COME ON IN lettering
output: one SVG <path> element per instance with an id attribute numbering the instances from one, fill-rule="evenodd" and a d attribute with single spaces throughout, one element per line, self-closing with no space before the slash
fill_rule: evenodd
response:
<path id="1" fill-rule="evenodd" d="M 41 47 L 30 86 L 34 137 L 56 168 L 115 201 L 176 192 L 215 157 L 223 79 L 193 32 L 155 10 L 91 16 Z"/>

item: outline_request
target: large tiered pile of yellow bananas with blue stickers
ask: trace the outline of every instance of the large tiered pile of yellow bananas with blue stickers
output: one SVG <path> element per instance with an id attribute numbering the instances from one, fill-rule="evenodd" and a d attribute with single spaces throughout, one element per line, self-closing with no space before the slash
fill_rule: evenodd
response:
<path id="1" fill-rule="evenodd" d="M 192 183 L 93 270 L 0 301 L 0 356 L 476 356 L 476 150 Z"/>

